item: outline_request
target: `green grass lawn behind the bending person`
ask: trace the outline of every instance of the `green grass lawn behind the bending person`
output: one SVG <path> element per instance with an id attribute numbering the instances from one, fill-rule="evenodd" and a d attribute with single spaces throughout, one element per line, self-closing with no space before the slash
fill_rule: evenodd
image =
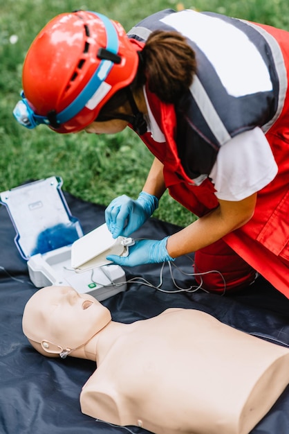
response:
<path id="1" fill-rule="evenodd" d="M 108 205 L 120 194 L 138 196 L 153 157 L 131 130 L 114 136 L 55 134 L 44 125 L 21 128 L 12 110 L 21 90 L 21 68 L 26 51 L 39 30 L 55 15 L 75 10 L 97 10 L 122 23 L 128 31 L 143 17 L 165 8 L 196 8 L 263 22 L 289 30 L 288 0 L 197 0 L 194 3 L 154 0 L 140 7 L 136 0 L 0 0 L 0 191 L 26 180 L 61 176 L 63 189 L 84 200 Z M 194 216 L 167 193 L 155 216 L 187 225 Z"/>

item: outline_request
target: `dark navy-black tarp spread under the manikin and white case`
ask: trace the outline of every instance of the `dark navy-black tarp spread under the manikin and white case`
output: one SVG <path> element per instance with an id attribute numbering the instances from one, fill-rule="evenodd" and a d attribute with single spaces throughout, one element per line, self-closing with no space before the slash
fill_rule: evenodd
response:
<path id="1" fill-rule="evenodd" d="M 104 223 L 103 207 L 68 194 L 66 200 L 85 233 Z M 151 218 L 136 236 L 162 238 L 178 229 Z M 95 370 L 95 363 L 69 357 L 50 359 L 30 347 L 21 330 L 21 317 L 36 288 L 28 277 L 26 261 L 19 255 L 14 236 L 15 229 L 8 212 L 5 207 L 0 207 L 0 433 L 147 433 L 142 428 L 110 426 L 82 415 L 80 390 Z M 176 265 L 184 272 L 192 273 L 192 261 L 187 257 L 177 259 Z M 144 277 L 154 285 L 160 282 L 160 265 L 124 270 L 127 279 Z M 192 277 L 178 270 L 174 271 L 174 277 L 176 284 L 183 288 L 192 284 Z M 176 290 L 167 266 L 162 288 Z M 125 293 L 114 295 L 103 303 L 111 310 L 113 320 L 120 322 L 149 318 L 168 307 L 198 309 L 237 329 L 289 346 L 289 300 L 261 277 L 241 293 L 224 297 L 200 291 L 162 293 L 133 283 L 128 285 Z M 288 433 L 289 387 L 252 431 L 252 434 Z"/>

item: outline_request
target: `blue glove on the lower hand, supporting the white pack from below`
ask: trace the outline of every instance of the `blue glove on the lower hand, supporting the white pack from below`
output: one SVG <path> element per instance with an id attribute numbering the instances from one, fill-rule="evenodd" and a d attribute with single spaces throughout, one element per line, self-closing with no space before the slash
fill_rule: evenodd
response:
<path id="1" fill-rule="evenodd" d="M 127 257 L 120 257 L 117 254 L 111 254 L 106 259 L 113 261 L 119 266 L 134 267 L 145 263 L 161 263 L 165 261 L 174 261 L 167 252 L 167 238 L 162 240 L 140 240 L 129 248 Z"/>

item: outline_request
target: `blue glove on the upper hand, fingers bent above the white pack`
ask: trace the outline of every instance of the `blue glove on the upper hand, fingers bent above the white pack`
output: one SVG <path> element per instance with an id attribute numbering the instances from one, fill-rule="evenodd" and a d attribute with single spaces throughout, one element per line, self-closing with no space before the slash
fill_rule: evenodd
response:
<path id="1" fill-rule="evenodd" d="M 105 210 L 105 221 L 113 238 L 130 236 L 158 208 L 158 198 L 142 191 L 137 200 L 122 195 L 113 199 Z M 127 223 L 127 225 L 126 225 Z"/>

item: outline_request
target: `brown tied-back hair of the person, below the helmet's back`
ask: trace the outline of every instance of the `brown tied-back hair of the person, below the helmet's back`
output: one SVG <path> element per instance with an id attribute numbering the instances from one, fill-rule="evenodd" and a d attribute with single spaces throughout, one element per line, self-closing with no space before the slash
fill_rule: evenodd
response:
<path id="1" fill-rule="evenodd" d="M 164 103 L 176 103 L 192 85 L 196 73 L 194 50 L 185 37 L 176 31 L 153 31 L 139 53 L 140 62 L 131 89 L 145 83 Z M 127 102 L 126 89 L 120 89 L 100 110 L 97 120 L 106 119 L 111 112 Z"/>

